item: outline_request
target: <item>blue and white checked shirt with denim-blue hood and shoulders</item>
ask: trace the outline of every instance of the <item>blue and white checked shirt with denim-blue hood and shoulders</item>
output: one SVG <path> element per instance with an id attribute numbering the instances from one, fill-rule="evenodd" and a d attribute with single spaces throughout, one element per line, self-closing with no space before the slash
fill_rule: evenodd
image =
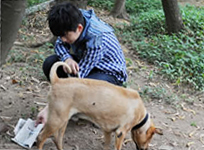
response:
<path id="1" fill-rule="evenodd" d="M 55 53 L 62 61 L 75 59 L 79 64 L 82 78 L 93 68 L 126 81 L 126 64 L 123 51 L 113 29 L 98 19 L 93 10 L 81 10 L 86 25 L 80 37 L 73 44 L 63 43 L 60 38 L 55 44 Z"/>

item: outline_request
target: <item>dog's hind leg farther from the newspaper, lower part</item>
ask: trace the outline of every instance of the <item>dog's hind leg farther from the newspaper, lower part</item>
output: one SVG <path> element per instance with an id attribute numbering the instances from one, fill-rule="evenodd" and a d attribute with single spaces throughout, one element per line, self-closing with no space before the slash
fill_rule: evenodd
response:
<path id="1" fill-rule="evenodd" d="M 68 121 L 64 122 L 64 125 L 54 133 L 54 140 L 53 141 L 54 141 L 58 150 L 63 149 L 63 147 L 62 147 L 63 136 L 64 136 L 64 132 L 65 132 L 66 127 L 67 127 L 67 123 L 68 123 Z"/>

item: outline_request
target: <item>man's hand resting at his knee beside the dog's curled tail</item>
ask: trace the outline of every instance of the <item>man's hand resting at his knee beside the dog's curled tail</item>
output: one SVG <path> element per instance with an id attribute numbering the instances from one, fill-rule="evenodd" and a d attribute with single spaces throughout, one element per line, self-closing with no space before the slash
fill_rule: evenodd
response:
<path id="1" fill-rule="evenodd" d="M 65 63 L 67 63 L 71 68 L 72 74 L 77 75 L 77 73 L 79 72 L 79 65 L 77 64 L 77 62 L 72 58 L 68 58 L 67 60 L 65 60 Z M 63 69 L 64 72 L 69 73 L 65 66 L 63 66 Z"/>

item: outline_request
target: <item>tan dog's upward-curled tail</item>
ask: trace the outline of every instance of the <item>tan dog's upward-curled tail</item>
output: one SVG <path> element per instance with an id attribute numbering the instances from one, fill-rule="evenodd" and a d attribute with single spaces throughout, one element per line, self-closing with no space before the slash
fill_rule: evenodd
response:
<path id="1" fill-rule="evenodd" d="M 59 77 L 57 76 L 57 68 L 59 66 L 66 66 L 67 70 L 68 70 L 68 74 L 72 73 L 71 68 L 69 67 L 68 64 L 66 64 L 64 62 L 60 62 L 60 61 L 54 63 L 54 65 L 52 66 L 51 71 L 50 71 L 50 82 L 51 82 L 51 84 L 54 84 L 59 79 Z"/>

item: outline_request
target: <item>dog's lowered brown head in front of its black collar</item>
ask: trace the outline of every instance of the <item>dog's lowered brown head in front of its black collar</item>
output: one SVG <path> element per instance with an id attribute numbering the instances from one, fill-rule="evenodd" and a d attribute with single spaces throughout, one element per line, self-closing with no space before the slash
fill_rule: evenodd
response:
<path id="1" fill-rule="evenodd" d="M 163 135 L 162 130 L 156 128 L 150 118 L 140 128 L 133 128 L 131 130 L 131 134 L 132 139 L 136 144 L 136 150 L 147 150 L 148 145 L 155 133 Z"/>

